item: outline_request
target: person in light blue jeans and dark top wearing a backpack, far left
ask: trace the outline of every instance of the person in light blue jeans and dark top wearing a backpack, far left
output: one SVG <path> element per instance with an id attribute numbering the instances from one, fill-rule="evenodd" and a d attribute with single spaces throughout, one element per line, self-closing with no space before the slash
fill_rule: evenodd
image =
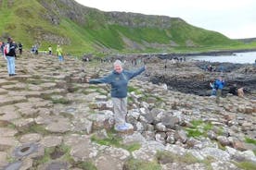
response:
<path id="1" fill-rule="evenodd" d="M 9 76 L 15 76 L 15 43 L 10 37 L 7 39 L 7 43 L 4 47 L 4 56 L 6 57 Z"/>

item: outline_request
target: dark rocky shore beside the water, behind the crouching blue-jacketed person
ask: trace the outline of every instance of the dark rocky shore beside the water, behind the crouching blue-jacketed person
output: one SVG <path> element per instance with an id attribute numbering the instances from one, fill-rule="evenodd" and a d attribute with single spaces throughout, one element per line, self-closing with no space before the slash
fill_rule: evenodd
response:
<path id="1" fill-rule="evenodd" d="M 210 65 L 216 70 L 212 72 L 206 70 L 206 67 Z M 165 66 L 167 66 L 166 69 Z M 221 71 L 220 67 L 224 67 L 224 71 Z M 166 83 L 173 91 L 209 96 L 211 95 L 209 82 L 221 76 L 225 80 L 224 96 L 234 84 L 237 84 L 237 87 L 243 87 L 247 95 L 256 96 L 256 67 L 254 65 L 203 61 L 173 64 L 171 60 L 167 62 L 159 60 L 158 65 L 154 65 L 151 70 L 154 71 L 148 72 L 148 76 L 152 82 Z"/>

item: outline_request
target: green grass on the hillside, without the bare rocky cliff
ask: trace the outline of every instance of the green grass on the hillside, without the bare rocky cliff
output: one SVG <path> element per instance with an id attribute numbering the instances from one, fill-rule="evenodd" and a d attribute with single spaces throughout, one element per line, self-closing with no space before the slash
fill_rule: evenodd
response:
<path id="1" fill-rule="evenodd" d="M 203 30 L 186 22 L 173 20 L 173 27 L 166 30 L 160 28 L 131 28 L 120 25 L 106 24 L 106 18 L 102 12 L 91 10 L 85 16 L 86 26 L 81 26 L 71 21 L 69 18 L 61 18 L 59 25 L 52 25 L 41 17 L 47 13 L 47 9 L 34 0 L 16 0 L 12 8 L 8 8 L 7 0 L 2 0 L 0 31 L 5 32 L 21 41 L 24 47 L 29 49 L 36 38 L 41 34 L 54 34 L 59 37 L 70 39 L 70 45 L 64 46 L 64 51 L 72 54 L 97 53 L 99 46 L 115 49 L 119 52 L 129 52 L 125 49 L 122 36 L 137 43 L 149 42 L 159 44 L 169 44 L 170 41 L 179 44 L 178 47 L 169 49 L 150 49 L 145 52 L 191 52 L 210 51 L 237 48 L 253 48 L 255 43 L 244 44 L 242 42 L 231 41 L 224 35 L 210 30 Z M 197 45 L 187 47 L 186 42 L 192 41 Z M 41 40 L 38 40 L 41 42 Z M 41 42 L 41 49 L 44 50 L 52 42 Z M 53 44 L 55 49 L 56 44 Z"/>

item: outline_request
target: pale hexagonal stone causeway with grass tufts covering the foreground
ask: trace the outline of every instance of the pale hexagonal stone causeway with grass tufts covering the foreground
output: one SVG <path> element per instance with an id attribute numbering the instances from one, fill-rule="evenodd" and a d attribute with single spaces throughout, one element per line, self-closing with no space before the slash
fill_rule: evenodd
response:
<path id="1" fill-rule="evenodd" d="M 198 63 L 170 64 L 165 70 L 159 58 L 147 62 L 146 73 L 130 83 L 127 121 L 134 126 L 132 134 L 112 128 L 109 86 L 84 83 L 108 73 L 111 63 L 67 56 L 59 64 L 56 56 L 25 54 L 16 64 L 15 77 L 7 77 L 6 64 L 0 65 L 0 169 L 256 167 L 256 100 L 250 86 L 245 98 L 226 95 L 216 103 L 159 83 L 168 78 L 183 88 L 189 80 L 208 82 L 220 74 L 205 72 Z M 243 78 L 243 70 L 238 67 L 224 77 L 237 73 Z M 159 84 L 151 82 L 154 78 Z M 189 87 L 195 91 L 194 85 Z"/>

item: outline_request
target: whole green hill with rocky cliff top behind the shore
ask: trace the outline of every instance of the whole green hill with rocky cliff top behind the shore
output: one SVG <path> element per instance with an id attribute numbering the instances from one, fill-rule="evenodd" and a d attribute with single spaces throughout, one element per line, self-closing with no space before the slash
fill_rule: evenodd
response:
<path id="1" fill-rule="evenodd" d="M 187 24 L 181 18 L 102 12 L 70 0 L 0 0 L 0 40 L 39 43 L 70 54 L 191 52 L 252 45 Z"/>

